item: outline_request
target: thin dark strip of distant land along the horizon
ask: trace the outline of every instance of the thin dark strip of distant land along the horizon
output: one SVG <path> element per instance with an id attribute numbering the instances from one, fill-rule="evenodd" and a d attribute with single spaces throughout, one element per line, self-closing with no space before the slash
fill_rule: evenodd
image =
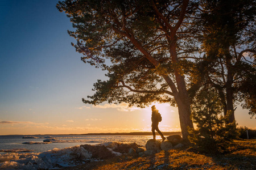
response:
<path id="1" fill-rule="evenodd" d="M 163 135 L 181 135 L 181 131 L 163 132 Z M 14 135 L 24 135 L 24 134 L 14 134 Z M 129 133 L 85 133 L 85 134 L 33 134 L 33 135 L 152 135 L 152 132 L 129 132 Z M 156 132 L 156 135 L 159 135 Z M 1 135 L 7 136 L 7 135 Z M 32 135 L 26 135 L 32 136 Z"/>

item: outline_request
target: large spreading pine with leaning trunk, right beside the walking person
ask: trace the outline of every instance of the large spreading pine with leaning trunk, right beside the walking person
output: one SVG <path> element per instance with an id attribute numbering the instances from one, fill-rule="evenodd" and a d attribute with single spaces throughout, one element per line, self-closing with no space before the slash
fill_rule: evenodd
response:
<path id="1" fill-rule="evenodd" d="M 76 28 L 69 34 L 77 40 L 73 45 L 84 55 L 82 61 L 108 70 L 109 80 L 98 80 L 95 94 L 84 103 L 176 103 L 187 138 L 187 126 L 193 128 L 185 83 L 191 63 L 182 58 L 197 50 L 189 19 L 195 5 L 188 0 L 77 0 L 59 2 L 57 7 Z"/>

